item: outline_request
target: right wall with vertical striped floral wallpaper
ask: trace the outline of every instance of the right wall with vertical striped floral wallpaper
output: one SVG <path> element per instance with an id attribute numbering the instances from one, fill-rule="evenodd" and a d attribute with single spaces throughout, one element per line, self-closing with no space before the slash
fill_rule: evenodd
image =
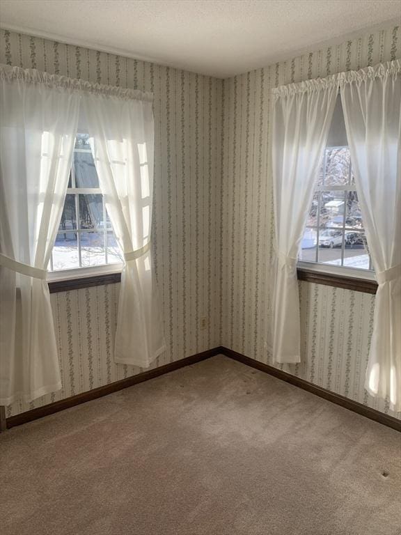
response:
<path id="1" fill-rule="evenodd" d="M 272 87 L 400 56 L 401 32 L 395 27 L 224 81 L 223 346 L 275 365 L 267 350 L 271 325 L 269 264 L 274 231 L 268 153 Z M 363 389 L 375 297 L 316 284 L 299 286 L 303 362 L 279 367 L 391 413 L 388 403 L 375 401 Z"/>

